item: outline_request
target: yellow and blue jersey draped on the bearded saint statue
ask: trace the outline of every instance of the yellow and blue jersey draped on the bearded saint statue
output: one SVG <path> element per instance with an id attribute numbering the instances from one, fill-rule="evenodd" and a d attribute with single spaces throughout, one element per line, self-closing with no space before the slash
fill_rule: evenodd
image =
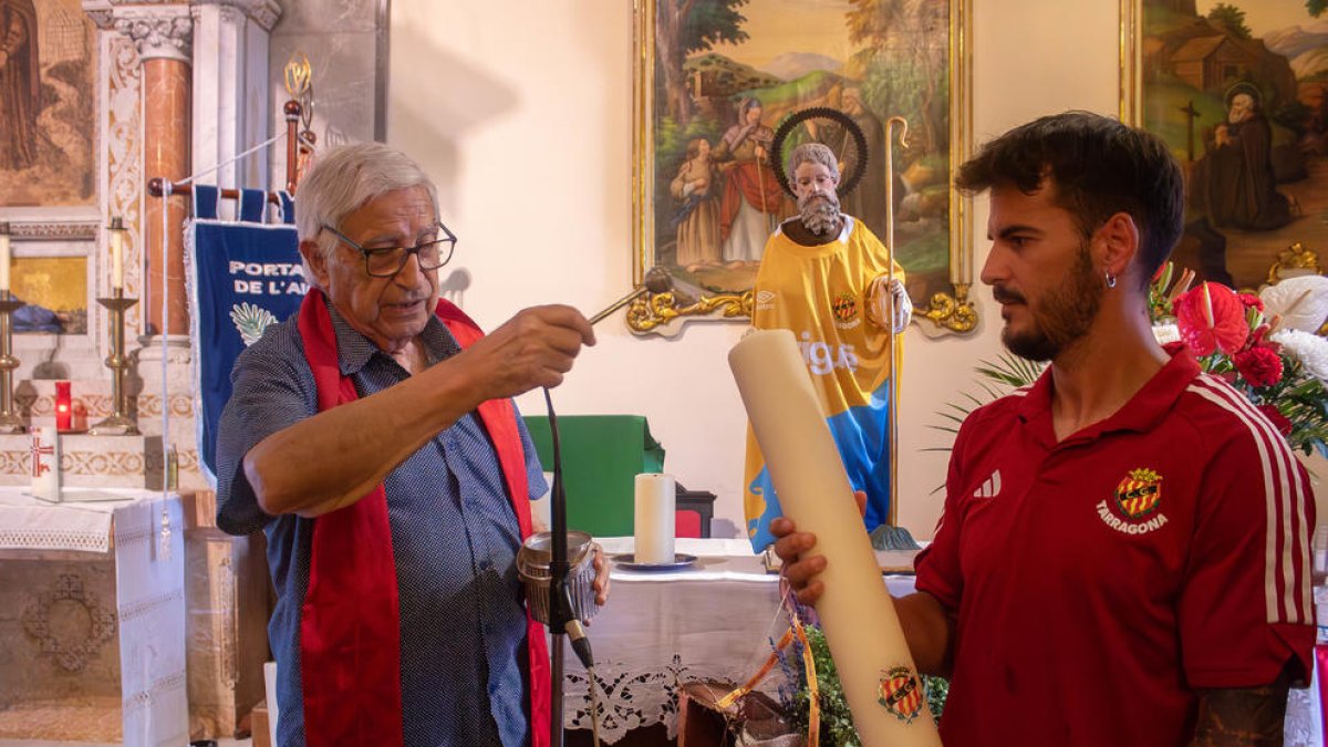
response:
<path id="1" fill-rule="evenodd" d="M 819 246 L 777 230 L 753 286 L 752 326 L 790 330 L 798 340 L 849 481 L 867 493 L 867 530 L 884 524 L 890 509 L 890 334 L 866 312 L 871 282 L 890 272 L 888 262 L 875 234 L 845 215 L 839 235 Z M 903 280 L 899 265 L 894 275 Z M 780 502 L 750 425 L 744 485 L 748 536 L 761 552 L 774 541 L 769 525 Z"/>

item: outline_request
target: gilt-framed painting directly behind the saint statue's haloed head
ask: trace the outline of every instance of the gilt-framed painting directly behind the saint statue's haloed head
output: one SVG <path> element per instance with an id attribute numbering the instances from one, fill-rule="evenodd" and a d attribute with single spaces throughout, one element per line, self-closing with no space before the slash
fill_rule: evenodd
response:
<path id="1" fill-rule="evenodd" d="M 647 292 L 628 328 L 673 335 L 693 319 L 750 316 L 765 241 L 797 213 L 781 187 L 791 146 L 774 152 L 795 125 L 853 161 L 843 210 L 887 245 L 894 209 L 914 320 L 972 331 L 968 201 L 951 187 L 971 137 L 965 1 L 636 0 L 633 280 Z M 907 137 L 887 157 L 892 117 Z M 835 121 L 851 157 L 827 134 Z"/>

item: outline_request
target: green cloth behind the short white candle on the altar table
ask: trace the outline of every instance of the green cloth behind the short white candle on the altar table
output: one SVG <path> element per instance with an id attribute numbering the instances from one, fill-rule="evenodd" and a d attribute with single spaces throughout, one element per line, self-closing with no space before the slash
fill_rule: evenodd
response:
<path id="1" fill-rule="evenodd" d="M 548 417 L 527 415 L 526 428 L 544 472 L 554 471 Z M 664 471 L 664 447 L 640 415 L 560 415 L 567 528 L 596 537 L 635 533 L 636 476 Z M 550 488 L 552 488 L 550 485 Z"/>

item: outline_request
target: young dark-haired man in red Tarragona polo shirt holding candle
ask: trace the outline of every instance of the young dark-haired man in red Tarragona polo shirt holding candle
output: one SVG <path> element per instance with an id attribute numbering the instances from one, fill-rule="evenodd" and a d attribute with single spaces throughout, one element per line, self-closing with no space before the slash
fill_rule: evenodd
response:
<path id="1" fill-rule="evenodd" d="M 1147 286 L 1181 234 L 1154 136 L 1070 112 L 987 144 L 992 286 L 1032 387 L 975 411 L 946 510 L 896 599 L 918 667 L 954 677 L 948 747 L 1280 744 L 1311 667 L 1313 497 L 1239 392 L 1151 331 Z M 814 537 L 772 530 L 811 602 Z"/>

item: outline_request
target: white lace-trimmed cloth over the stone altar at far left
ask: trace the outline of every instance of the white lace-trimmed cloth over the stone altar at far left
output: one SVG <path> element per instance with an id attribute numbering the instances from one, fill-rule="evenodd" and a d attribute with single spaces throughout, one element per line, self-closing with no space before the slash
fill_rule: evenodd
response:
<path id="1" fill-rule="evenodd" d="M 122 493 L 125 500 L 48 504 L 19 488 L 0 488 L 0 550 L 108 553 L 113 544 L 125 744 L 187 744 L 179 496 L 100 492 Z"/>

